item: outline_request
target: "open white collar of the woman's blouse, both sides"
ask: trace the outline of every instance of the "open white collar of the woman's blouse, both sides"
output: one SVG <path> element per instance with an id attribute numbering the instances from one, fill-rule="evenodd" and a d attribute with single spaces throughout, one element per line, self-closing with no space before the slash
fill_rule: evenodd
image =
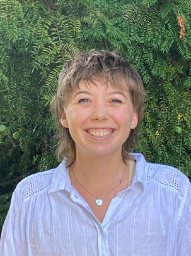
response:
<path id="1" fill-rule="evenodd" d="M 147 162 L 142 154 L 139 153 L 131 153 L 130 154 L 136 160 L 136 169 L 135 175 L 133 177 L 131 186 L 133 186 L 137 182 L 141 182 L 143 184 L 143 188 L 145 188 L 146 183 L 146 170 L 147 170 Z M 49 187 L 49 193 L 54 193 L 59 190 L 69 190 L 71 186 L 70 177 L 65 166 L 65 160 L 63 160 L 59 166 L 53 171 L 52 181 Z"/>

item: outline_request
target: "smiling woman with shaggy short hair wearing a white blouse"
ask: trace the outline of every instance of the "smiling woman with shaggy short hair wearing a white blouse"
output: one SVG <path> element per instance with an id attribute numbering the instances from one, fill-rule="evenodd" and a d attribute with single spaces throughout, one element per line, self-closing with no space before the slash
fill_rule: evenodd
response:
<path id="1" fill-rule="evenodd" d="M 191 255 L 191 190 L 177 169 L 131 153 L 144 89 L 116 53 L 78 54 L 54 98 L 58 157 L 21 181 L 0 255 Z"/>

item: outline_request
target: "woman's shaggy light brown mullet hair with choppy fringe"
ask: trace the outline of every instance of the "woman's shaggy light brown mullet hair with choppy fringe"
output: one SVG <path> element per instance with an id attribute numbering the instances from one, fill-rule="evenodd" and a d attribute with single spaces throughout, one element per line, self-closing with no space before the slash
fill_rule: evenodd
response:
<path id="1" fill-rule="evenodd" d="M 77 54 L 63 66 L 53 100 L 58 138 L 57 156 L 59 160 L 65 158 L 67 166 L 71 166 L 76 158 L 75 142 L 69 129 L 61 124 L 61 115 L 67 99 L 76 88 L 79 88 L 80 81 L 94 83 L 100 79 L 114 88 L 124 89 L 125 85 L 129 90 L 133 108 L 138 113 L 138 124 L 143 118 L 144 86 L 137 71 L 129 62 L 124 61 L 116 52 L 105 50 Z M 137 141 L 138 126 L 130 131 L 129 137 L 122 145 L 123 162 L 130 159 L 129 153 L 133 151 Z"/>

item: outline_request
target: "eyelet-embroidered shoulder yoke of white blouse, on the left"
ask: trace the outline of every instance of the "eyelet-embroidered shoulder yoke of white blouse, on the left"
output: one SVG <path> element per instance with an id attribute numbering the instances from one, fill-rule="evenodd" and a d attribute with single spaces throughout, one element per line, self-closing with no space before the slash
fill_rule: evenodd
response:
<path id="1" fill-rule="evenodd" d="M 14 191 L 17 200 L 22 203 L 34 195 L 37 195 L 49 188 L 54 169 L 32 174 L 21 180 Z"/>

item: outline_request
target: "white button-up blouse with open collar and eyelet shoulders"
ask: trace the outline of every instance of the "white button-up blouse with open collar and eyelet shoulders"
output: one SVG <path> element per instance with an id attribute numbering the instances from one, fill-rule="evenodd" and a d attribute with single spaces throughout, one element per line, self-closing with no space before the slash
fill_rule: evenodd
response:
<path id="1" fill-rule="evenodd" d="M 3 226 L 0 255 L 191 255 L 191 183 L 173 167 L 132 155 L 132 183 L 112 199 L 102 223 L 71 186 L 64 161 L 22 180 Z"/>

